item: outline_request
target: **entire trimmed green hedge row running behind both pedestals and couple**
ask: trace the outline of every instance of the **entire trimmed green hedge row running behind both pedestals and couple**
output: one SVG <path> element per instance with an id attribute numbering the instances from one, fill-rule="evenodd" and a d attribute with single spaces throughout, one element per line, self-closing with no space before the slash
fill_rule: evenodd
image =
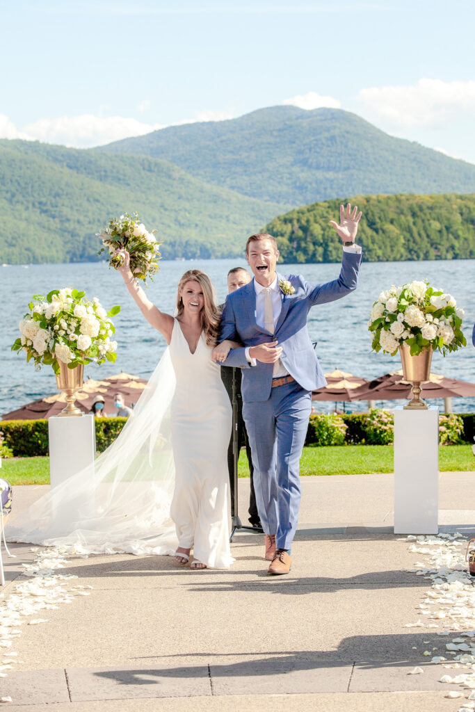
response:
<path id="1" fill-rule="evenodd" d="M 320 415 L 320 418 L 319 418 Z M 305 444 L 315 446 L 320 443 L 321 415 L 310 416 Z M 474 443 L 475 413 L 459 413 L 464 423 L 462 441 Z M 345 443 L 368 444 L 367 413 L 343 413 L 341 420 L 346 426 Z M 95 441 L 98 452 L 103 452 L 116 439 L 126 418 L 96 418 Z M 47 420 L 4 420 L 0 421 L 4 432 L 4 444 L 13 450 L 14 457 L 35 457 L 48 455 Z M 323 443 L 326 444 L 326 443 Z"/>

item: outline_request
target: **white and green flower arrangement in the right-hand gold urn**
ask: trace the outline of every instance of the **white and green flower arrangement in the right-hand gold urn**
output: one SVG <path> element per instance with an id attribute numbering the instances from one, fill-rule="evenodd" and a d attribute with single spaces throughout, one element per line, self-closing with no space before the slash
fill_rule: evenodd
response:
<path id="1" fill-rule="evenodd" d="M 400 345 L 418 355 L 424 346 L 442 355 L 466 345 L 462 333 L 464 310 L 454 297 L 429 286 L 427 281 L 394 285 L 380 293 L 372 305 L 368 329 L 373 333 L 372 349 L 394 356 Z"/>

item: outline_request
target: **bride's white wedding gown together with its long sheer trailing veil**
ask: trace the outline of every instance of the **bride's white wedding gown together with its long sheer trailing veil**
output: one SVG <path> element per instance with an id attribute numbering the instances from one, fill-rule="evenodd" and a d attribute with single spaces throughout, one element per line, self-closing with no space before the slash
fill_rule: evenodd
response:
<path id="1" fill-rule="evenodd" d="M 172 555 L 193 545 L 207 566 L 229 567 L 231 405 L 211 352 L 202 335 L 192 354 L 174 320 L 118 439 L 26 511 L 13 508 L 7 539 L 80 555 Z"/>

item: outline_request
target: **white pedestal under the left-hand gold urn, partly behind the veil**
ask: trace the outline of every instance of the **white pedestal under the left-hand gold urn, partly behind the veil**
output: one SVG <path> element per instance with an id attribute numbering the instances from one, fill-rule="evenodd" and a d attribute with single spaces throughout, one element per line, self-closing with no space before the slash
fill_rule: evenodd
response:
<path id="1" fill-rule="evenodd" d="M 58 513 L 61 520 L 73 523 L 80 519 L 80 512 L 93 511 L 94 507 L 94 416 L 53 416 L 48 420 L 48 436 L 53 518 Z M 85 478 L 90 480 L 90 485 L 83 489 L 85 496 L 80 499 L 65 498 L 61 484 L 84 468 L 88 468 Z M 61 512 L 57 512 L 60 506 Z M 67 512 L 64 511 L 65 506 Z"/>

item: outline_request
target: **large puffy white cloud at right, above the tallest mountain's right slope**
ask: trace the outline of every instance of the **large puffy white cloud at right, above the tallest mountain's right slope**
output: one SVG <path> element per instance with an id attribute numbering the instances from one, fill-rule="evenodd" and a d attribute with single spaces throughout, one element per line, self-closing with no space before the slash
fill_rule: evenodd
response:
<path id="1" fill-rule="evenodd" d="M 444 127 L 466 115 L 475 118 L 475 81 L 420 79 L 412 86 L 373 87 L 357 98 L 394 126 Z"/>

